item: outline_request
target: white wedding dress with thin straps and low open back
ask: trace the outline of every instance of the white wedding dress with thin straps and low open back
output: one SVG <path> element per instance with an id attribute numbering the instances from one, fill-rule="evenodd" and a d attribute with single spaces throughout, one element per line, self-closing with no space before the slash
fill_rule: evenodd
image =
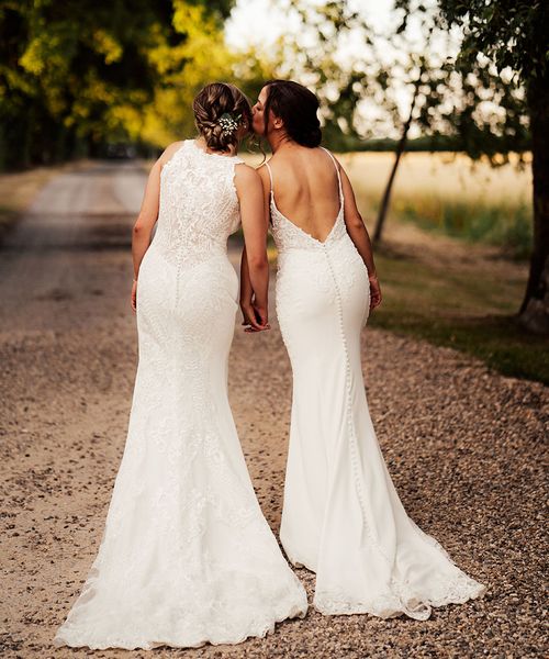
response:
<path id="1" fill-rule="evenodd" d="M 326 149 L 324 149 L 326 150 Z M 344 196 L 324 242 L 277 208 L 277 314 L 293 371 L 290 447 L 280 539 L 295 566 L 316 572 L 324 614 L 405 614 L 466 602 L 484 587 L 406 515 L 386 470 L 366 399 L 360 332 L 369 280 L 347 234 Z"/>

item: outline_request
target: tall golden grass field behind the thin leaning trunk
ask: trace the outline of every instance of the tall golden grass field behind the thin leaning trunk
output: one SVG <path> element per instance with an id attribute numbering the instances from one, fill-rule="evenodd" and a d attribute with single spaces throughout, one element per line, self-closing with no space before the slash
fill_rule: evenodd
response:
<path id="1" fill-rule="evenodd" d="M 369 226 L 377 215 L 394 156 L 341 154 L 358 205 Z M 492 168 L 462 154 L 411 153 L 403 157 L 393 187 L 390 221 L 471 242 L 497 245 L 526 258 L 531 245 L 531 169 L 512 163 Z"/>

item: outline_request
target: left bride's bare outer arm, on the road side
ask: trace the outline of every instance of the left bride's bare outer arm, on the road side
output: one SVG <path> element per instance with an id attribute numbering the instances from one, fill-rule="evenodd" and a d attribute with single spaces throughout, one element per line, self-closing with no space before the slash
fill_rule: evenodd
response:
<path id="1" fill-rule="evenodd" d="M 136 310 L 137 278 L 139 266 L 145 253 L 150 245 L 150 235 L 158 220 L 158 209 L 160 205 L 160 172 L 164 165 L 172 157 L 176 150 L 181 146 L 180 142 L 170 144 L 158 160 L 150 168 L 139 214 L 132 232 L 132 257 L 134 261 L 134 282 L 132 287 L 132 309 Z"/>

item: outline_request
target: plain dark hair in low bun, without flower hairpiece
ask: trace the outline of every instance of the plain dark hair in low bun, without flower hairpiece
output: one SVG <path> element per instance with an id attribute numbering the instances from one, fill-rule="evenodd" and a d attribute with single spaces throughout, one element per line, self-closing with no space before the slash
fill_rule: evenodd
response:
<path id="1" fill-rule="evenodd" d="M 268 97 L 265 103 L 265 134 L 270 112 L 284 122 L 288 135 L 302 146 L 318 146 L 322 141 L 321 122 L 316 116 L 318 99 L 303 85 L 293 80 L 269 80 L 265 83 Z"/>

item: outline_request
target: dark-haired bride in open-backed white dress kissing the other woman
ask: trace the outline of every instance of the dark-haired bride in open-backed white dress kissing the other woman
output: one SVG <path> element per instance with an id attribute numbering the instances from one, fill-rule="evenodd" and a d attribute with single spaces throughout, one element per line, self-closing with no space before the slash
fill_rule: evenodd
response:
<path id="1" fill-rule="evenodd" d="M 311 91 L 283 80 L 268 82 L 254 107 L 254 130 L 273 154 L 259 174 L 293 371 L 280 539 L 293 565 L 316 572 L 320 612 L 426 619 L 433 606 L 485 589 L 407 516 L 380 451 L 360 360 L 380 286 L 349 179 L 320 147 L 317 109 Z M 243 258 L 244 320 L 259 331 L 250 276 Z"/>

